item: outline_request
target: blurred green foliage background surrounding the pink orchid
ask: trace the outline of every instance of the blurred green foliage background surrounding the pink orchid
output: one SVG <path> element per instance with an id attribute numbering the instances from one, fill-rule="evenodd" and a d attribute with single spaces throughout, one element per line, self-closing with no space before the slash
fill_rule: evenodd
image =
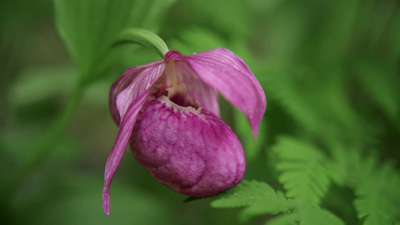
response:
<path id="1" fill-rule="evenodd" d="M 357 152 L 398 171 L 399 1 L 2 0 L 2 224 L 239 224 L 239 209 L 182 203 L 129 151 L 114 176 L 112 216 L 104 214 L 104 166 L 118 129 L 110 85 L 126 68 L 159 59 L 133 44 L 107 52 L 125 26 L 152 30 L 182 54 L 226 47 L 250 66 L 268 102 L 255 142 L 221 98 L 222 118 L 244 146 L 245 179 L 283 190 L 271 151 L 282 135 L 332 159 Z M 344 164 L 351 173 L 353 163 Z M 322 205 L 355 224 L 353 200 L 351 188 L 334 184 Z"/>

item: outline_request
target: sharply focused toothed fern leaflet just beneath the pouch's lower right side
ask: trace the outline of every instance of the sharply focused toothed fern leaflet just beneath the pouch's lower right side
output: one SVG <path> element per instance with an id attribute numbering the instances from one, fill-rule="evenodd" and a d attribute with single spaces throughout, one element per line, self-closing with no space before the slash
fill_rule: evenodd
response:
<path id="1" fill-rule="evenodd" d="M 260 181 L 242 181 L 230 189 L 229 195 L 224 195 L 211 202 L 214 208 L 230 208 L 260 204 L 271 199 L 288 205 L 286 199 L 278 199 L 275 190 L 267 183 Z M 279 208 L 279 207 L 278 207 Z"/>

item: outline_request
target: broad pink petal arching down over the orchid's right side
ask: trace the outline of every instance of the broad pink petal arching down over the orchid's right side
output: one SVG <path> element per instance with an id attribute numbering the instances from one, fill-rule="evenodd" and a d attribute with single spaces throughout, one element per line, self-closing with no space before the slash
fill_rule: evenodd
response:
<path id="1" fill-rule="evenodd" d="M 246 115 L 256 138 L 266 99 L 260 83 L 242 59 L 224 48 L 188 56 L 170 51 L 166 59 L 186 62 L 202 81 L 238 107 Z"/>

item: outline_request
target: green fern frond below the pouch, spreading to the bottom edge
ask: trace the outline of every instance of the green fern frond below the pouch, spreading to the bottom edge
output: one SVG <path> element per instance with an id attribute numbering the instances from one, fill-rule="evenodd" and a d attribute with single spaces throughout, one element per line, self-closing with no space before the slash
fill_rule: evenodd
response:
<path id="1" fill-rule="evenodd" d="M 260 181 L 242 181 L 236 187 L 214 195 L 216 200 L 211 206 L 216 208 L 243 207 L 239 214 L 240 221 L 247 221 L 252 217 L 264 214 L 286 214 L 270 220 L 270 225 L 344 225 L 335 215 L 304 201 L 286 199 L 282 192 L 275 190 L 267 183 Z"/>

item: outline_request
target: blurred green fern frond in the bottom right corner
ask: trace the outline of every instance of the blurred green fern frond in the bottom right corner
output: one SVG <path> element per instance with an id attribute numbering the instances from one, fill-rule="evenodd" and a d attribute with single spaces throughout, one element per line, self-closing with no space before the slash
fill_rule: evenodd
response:
<path id="1" fill-rule="evenodd" d="M 363 171 L 360 171 L 362 173 Z M 364 225 L 392 224 L 400 219 L 400 175 L 390 163 L 369 175 L 360 175 L 354 193 L 354 207 Z"/>

